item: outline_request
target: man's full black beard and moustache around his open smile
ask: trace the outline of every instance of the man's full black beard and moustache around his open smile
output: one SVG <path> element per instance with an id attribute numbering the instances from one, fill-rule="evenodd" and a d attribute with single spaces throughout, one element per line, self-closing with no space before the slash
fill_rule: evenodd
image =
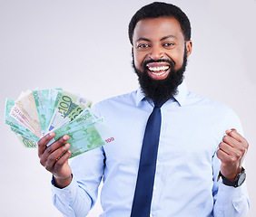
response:
<path id="1" fill-rule="evenodd" d="M 147 72 L 146 65 L 150 62 L 168 62 L 170 64 L 170 72 L 164 80 L 153 80 Z M 133 57 L 133 69 L 138 76 L 140 86 L 143 90 L 145 98 L 152 100 L 154 103 L 163 103 L 172 99 L 178 92 L 177 88 L 182 83 L 183 74 L 187 66 L 187 50 L 185 48 L 182 67 L 174 70 L 175 63 L 171 60 L 161 59 L 158 61 L 150 60 L 143 62 L 143 71 L 136 69 Z"/>

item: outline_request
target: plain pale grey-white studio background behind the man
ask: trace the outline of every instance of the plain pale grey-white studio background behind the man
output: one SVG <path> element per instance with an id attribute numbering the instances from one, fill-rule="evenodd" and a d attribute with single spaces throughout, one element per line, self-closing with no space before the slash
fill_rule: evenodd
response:
<path id="1" fill-rule="evenodd" d="M 97 102 L 137 88 L 127 26 L 151 1 L 0 0 L 0 115 L 22 90 L 62 87 Z M 171 1 L 169 1 L 171 2 Z M 230 106 L 250 143 L 246 157 L 256 215 L 256 2 L 176 0 L 192 23 L 190 90 Z M 0 216 L 62 216 L 51 202 L 51 175 L 35 149 L 0 124 Z M 99 216 L 97 204 L 90 216 Z"/>

